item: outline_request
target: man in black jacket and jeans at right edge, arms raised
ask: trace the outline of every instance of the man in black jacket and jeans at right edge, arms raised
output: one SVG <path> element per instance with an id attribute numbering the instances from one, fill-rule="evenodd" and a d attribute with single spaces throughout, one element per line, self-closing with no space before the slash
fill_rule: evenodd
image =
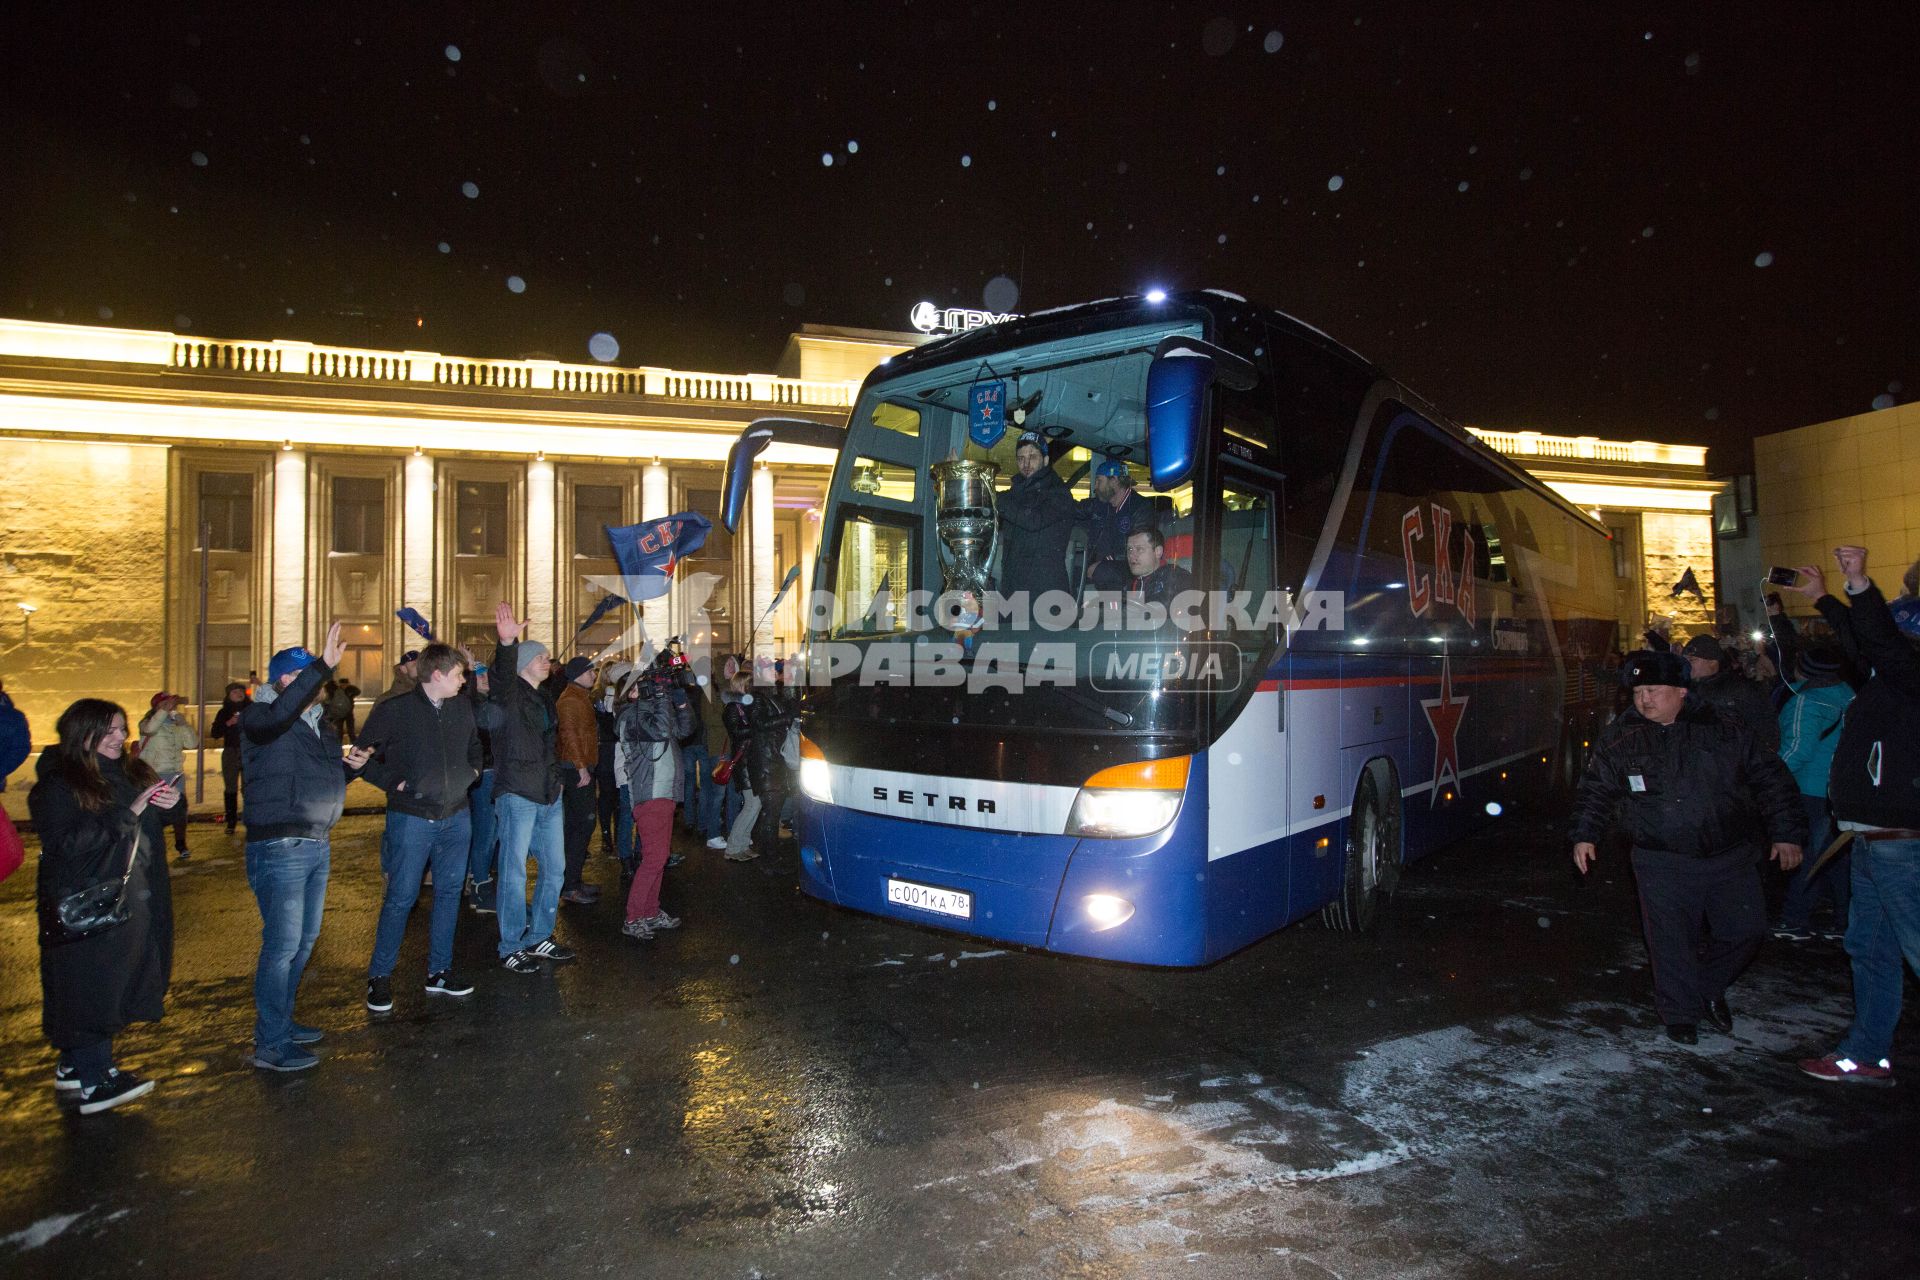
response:
<path id="1" fill-rule="evenodd" d="M 1872 677 L 1847 706 L 1826 794 L 1834 821 L 1853 833 L 1853 1027 L 1826 1057 L 1801 1071 L 1820 1080 L 1893 1084 L 1893 1029 L 1901 1021 L 1901 958 L 1920 971 L 1920 604 L 1891 608 L 1866 576 L 1864 547 L 1837 547 L 1847 604 L 1826 593 L 1826 578 L 1801 566 L 1801 595 L 1834 628 L 1841 647 Z"/>

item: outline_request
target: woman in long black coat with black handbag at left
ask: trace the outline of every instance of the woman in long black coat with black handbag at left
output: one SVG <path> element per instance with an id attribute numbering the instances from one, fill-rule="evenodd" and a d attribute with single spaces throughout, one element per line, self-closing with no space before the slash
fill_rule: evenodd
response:
<path id="1" fill-rule="evenodd" d="M 81 699 L 27 794 L 40 835 L 40 1027 L 60 1052 L 54 1092 L 92 1115 L 152 1092 L 113 1067 L 113 1036 L 156 1023 L 173 977 L 163 856 L 177 779 L 127 754 L 127 712 Z"/>

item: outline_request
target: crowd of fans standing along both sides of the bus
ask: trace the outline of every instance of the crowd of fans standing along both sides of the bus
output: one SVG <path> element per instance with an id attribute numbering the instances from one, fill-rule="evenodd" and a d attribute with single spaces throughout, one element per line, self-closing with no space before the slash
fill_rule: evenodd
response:
<path id="1" fill-rule="evenodd" d="M 1144 551 L 1142 551 L 1144 555 Z M 1801 1063 L 1820 1080 L 1889 1084 L 1903 960 L 1920 969 L 1920 599 L 1914 572 L 1891 604 L 1866 551 L 1839 547 L 1845 599 L 1803 566 L 1791 587 L 1818 622 L 1797 629 L 1768 603 L 1761 643 L 1663 631 L 1617 660 L 1622 708 L 1601 735 L 1574 812 L 1584 873 L 1617 814 L 1632 842 L 1655 1007 L 1667 1034 L 1734 1029 L 1728 986 L 1768 933 L 1761 867 L 1789 875 L 1776 938 L 1843 940 L 1855 1019 L 1841 1044 Z M 1920 568 L 1920 566 L 1916 566 Z M 225 821 L 246 827 L 261 915 L 252 1063 L 305 1071 L 317 1027 L 296 1002 L 321 933 L 332 829 L 355 777 L 386 793 L 386 892 L 367 967 L 367 1007 L 394 1007 L 411 910 L 432 885 L 426 998 L 463 998 L 453 938 L 467 908 L 490 915 L 501 971 L 538 973 L 574 952 L 555 936 L 563 904 L 601 887 L 588 852 L 618 865 L 622 933 L 680 927 L 662 902 L 674 823 L 726 860 L 776 848 L 799 729 L 778 664 L 726 658 L 697 677 L 678 643 L 641 666 L 557 662 L 507 604 L 488 662 L 430 643 L 355 729 L 334 624 L 315 654 L 273 654 L 267 677 L 232 683 L 209 725 L 221 745 Z M 198 747 L 180 699 L 157 693 L 138 722 L 81 699 L 61 714 L 29 794 L 40 837 L 42 1027 L 54 1088 L 92 1113 L 154 1088 L 113 1061 L 113 1038 L 161 1015 L 173 958 L 165 837 L 188 856 L 182 756 Z M 29 733 L 0 687 L 0 785 Z M 349 743 L 342 750 L 344 743 Z M 12 844 L 10 844 L 12 841 Z M 0 829 L 4 856 L 19 842 Z M 534 864 L 532 883 L 528 862 Z M 611 885 L 609 885 L 611 889 Z"/>

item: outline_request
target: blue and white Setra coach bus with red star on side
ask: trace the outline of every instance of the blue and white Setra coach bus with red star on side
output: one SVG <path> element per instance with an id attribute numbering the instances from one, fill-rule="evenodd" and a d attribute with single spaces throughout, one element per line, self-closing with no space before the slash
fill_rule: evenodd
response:
<path id="1" fill-rule="evenodd" d="M 1023 432 L 1079 510 L 1046 566 L 1068 591 L 1021 606 L 996 587 L 1018 539 L 979 489 L 1004 491 Z M 845 432 L 749 426 L 728 526 L 774 439 L 839 449 L 799 693 L 816 898 L 1200 965 L 1313 912 L 1369 927 L 1402 865 L 1565 783 L 1597 729 L 1605 530 L 1231 294 L 1068 307 L 899 355 Z M 1091 591 L 1100 499 L 1079 482 L 1110 462 L 1192 576 L 1188 606 Z"/>

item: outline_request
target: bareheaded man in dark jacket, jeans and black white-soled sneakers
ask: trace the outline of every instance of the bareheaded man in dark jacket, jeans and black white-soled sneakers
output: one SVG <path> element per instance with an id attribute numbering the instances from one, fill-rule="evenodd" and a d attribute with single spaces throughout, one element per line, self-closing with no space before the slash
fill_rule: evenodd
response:
<path id="1" fill-rule="evenodd" d="M 394 1007 L 394 963 L 407 935 L 407 915 L 420 896 L 420 877 L 434 869 L 434 919 L 426 944 L 426 994 L 470 996 L 453 977 L 453 933 L 461 917 L 461 887 L 472 819 L 467 791 L 480 777 L 480 731 L 474 708 L 461 697 L 467 664 L 449 645 L 428 645 L 415 670 L 419 683 L 372 708 L 359 745 L 372 748 L 365 777 L 386 793 L 386 835 L 380 869 L 386 900 L 367 965 L 367 1007 Z"/>

